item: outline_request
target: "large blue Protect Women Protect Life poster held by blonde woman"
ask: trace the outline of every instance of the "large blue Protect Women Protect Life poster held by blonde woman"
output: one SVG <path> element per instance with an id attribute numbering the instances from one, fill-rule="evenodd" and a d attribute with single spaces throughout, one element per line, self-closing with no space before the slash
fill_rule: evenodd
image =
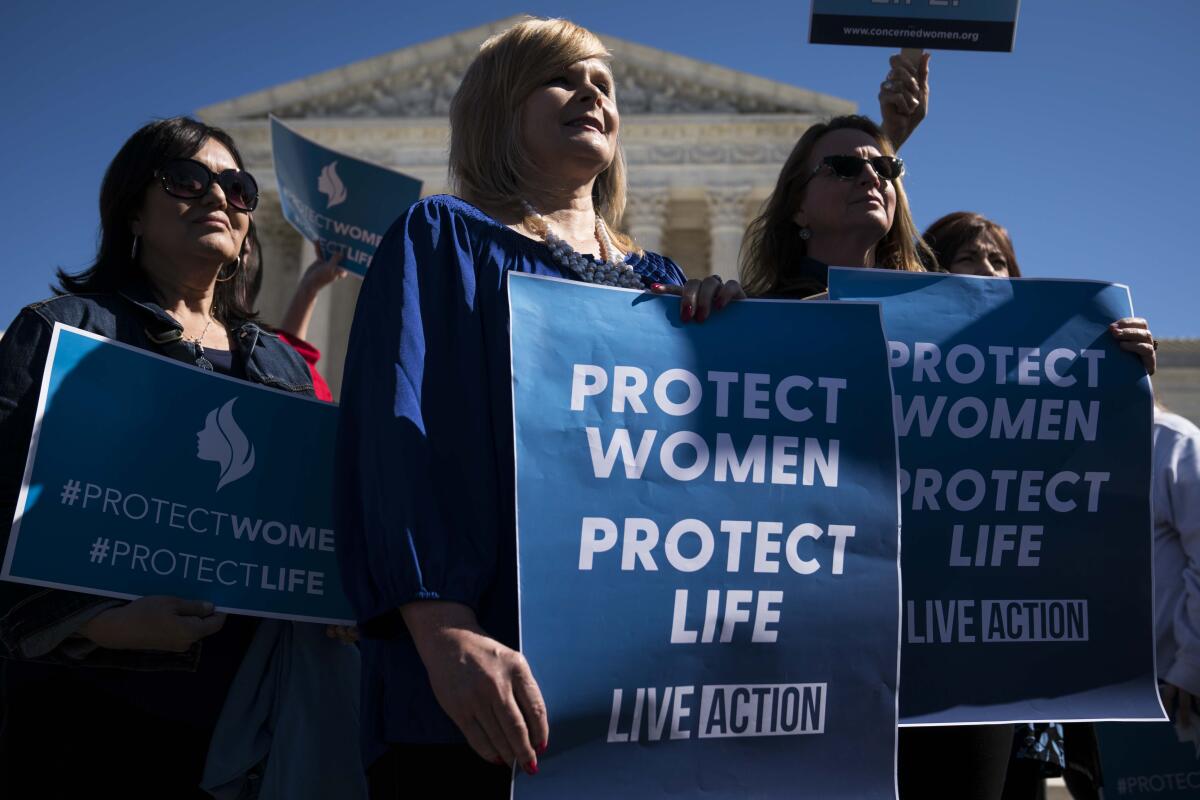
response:
<path id="1" fill-rule="evenodd" d="M 526 798 L 893 798 L 896 456 L 874 305 L 511 275 Z M 820 331 L 814 347 L 804 331 Z"/>

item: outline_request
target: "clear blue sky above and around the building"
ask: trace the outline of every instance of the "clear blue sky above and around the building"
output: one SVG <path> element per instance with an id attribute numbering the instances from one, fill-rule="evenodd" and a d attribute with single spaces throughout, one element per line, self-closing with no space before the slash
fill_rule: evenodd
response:
<path id="1" fill-rule="evenodd" d="M 10 4 L 0 327 L 54 267 L 89 263 L 101 176 L 143 122 L 520 12 L 878 113 L 888 50 L 806 44 L 805 0 Z M 1198 46 L 1195 0 L 1026 0 L 1014 54 L 935 53 L 930 118 L 904 154 L 917 224 L 983 212 L 1026 275 L 1128 283 L 1158 336 L 1200 336 Z"/>

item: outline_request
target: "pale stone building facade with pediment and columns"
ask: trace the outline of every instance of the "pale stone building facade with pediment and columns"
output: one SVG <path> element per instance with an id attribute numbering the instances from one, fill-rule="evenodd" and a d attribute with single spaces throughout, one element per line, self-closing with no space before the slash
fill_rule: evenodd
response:
<path id="1" fill-rule="evenodd" d="M 265 277 L 260 311 L 283 315 L 312 248 L 280 212 L 268 115 L 322 144 L 446 191 L 450 98 L 480 43 L 518 18 L 407 47 L 199 109 L 238 140 L 263 198 L 254 219 Z M 856 112 L 846 100 L 601 35 L 613 54 L 622 142 L 629 162 L 624 227 L 691 276 L 737 276 L 746 223 L 815 121 Z M 308 339 L 334 390 L 361 282 L 322 293 Z M 1200 423 L 1200 339 L 1165 339 L 1158 396 Z"/>

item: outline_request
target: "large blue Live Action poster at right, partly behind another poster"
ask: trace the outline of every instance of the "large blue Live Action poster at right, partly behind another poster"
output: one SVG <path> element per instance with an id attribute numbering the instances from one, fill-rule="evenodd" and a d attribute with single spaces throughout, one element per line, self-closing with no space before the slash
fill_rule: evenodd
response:
<path id="1" fill-rule="evenodd" d="M 900 437 L 907 723 L 1162 718 L 1128 289 L 834 269 L 877 300 Z"/>

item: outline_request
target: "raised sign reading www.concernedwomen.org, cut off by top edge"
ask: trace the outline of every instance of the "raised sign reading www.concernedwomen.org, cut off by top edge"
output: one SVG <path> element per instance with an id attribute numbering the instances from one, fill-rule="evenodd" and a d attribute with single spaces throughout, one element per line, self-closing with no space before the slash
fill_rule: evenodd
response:
<path id="1" fill-rule="evenodd" d="M 809 41 L 1010 52 L 1020 0 L 812 0 Z"/>

